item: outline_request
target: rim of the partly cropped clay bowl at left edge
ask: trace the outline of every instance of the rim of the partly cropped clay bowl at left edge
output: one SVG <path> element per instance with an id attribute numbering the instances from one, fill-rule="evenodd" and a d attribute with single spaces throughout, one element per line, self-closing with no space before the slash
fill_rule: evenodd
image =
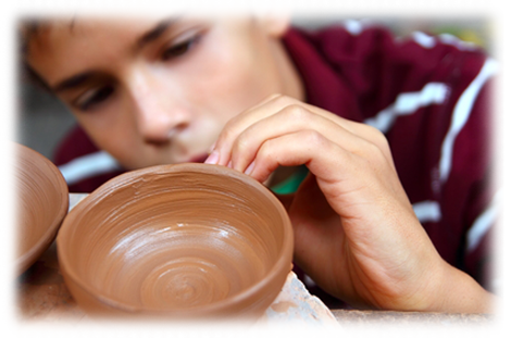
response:
<path id="1" fill-rule="evenodd" d="M 4 145 L 9 149 L 14 149 L 16 151 L 16 157 L 18 158 L 24 158 L 26 154 L 32 154 L 32 158 L 35 157 L 42 161 L 55 175 L 55 190 L 58 190 L 61 197 L 60 209 L 57 213 L 57 217 L 53 223 L 50 224 L 48 229 L 41 235 L 41 237 L 34 243 L 34 246 L 29 250 L 25 251 L 22 255 L 20 255 L 14 261 L 11 261 L 9 264 L 0 267 L 0 276 L 13 274 L 16 272 L 16 270 L 21 270 L 21 272 L 16 274 L 16 276 L 11 278 L 11 280 L 5 284 L 8 285 L 9 283 L 16 279 L 26 270 L 28 270 L 28 267 L 39 259 L 39 255 L 42 254 L 42 252 L 38 253 L 38 251 L 45 251 L 46 249 L 48 249 L 49 246 L 51 246 L 65 215 L 67 214 L 67 210 L 70 208 L 70 193 L 67 183 L 65 181 L 64 176 L 62 175 L 61 171 L 57 167 L 57 165 L 54 165 L 49 159 L 27 146 L 0 138 L 0 147 L 3 147 Z M 45 248 L 45 246 L 47 246 L 47 248 Z M 34 260 L 34 262 L 30 263 L 32 260 Z"/>

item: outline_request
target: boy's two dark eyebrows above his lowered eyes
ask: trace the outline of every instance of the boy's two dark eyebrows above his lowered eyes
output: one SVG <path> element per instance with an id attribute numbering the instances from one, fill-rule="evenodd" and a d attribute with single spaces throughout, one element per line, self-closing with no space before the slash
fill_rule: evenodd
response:
<path id="1" fill-rule="evenodd" d="M 172 12 L 170 15 L 163 17 L 151 30 L 144 34 L 137 40 L 137 48 L 142 48 L 145 45 L 158 39 L 166 29 L 169 29 L 172 25 L 177 23 L 183 16 L 185 16 L 188 12 L 196 9 L 199 3 L 190 3 L 187 4 L 177 11 Z M 95 72 L 85 72 L 70 78 L 66 78 L 55 86 L 53 86 L 54 92 L 61 92 L 68 89 L 73 89 L 76 87 L 82 86 L 84 83 L 88 82 L 95 76 Z"/>

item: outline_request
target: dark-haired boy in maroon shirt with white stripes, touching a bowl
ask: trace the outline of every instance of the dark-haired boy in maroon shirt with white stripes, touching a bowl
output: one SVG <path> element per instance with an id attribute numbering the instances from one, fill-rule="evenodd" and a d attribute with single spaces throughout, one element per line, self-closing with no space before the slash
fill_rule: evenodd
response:
<path id="1" fill-rule="evenodd" d="M 205 161 L 270 185 L 306 165 L 282 200 L 295 261 L 324 290 L 361 309 L 503 313 L 485 290 L 503 296 L 497 61 L 376 25 L 289 30 L 291 0 L 20 1 L 18 16 L 4 2 L 2 49 L 85 130 L 60 163 Z M 68 181 L 82 160 L 61 166 Z"/>

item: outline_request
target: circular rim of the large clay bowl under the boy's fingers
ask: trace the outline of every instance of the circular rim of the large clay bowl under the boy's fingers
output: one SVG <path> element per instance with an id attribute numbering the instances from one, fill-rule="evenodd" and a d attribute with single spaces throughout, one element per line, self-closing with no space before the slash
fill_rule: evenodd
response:
<path id="1" fill-rule="evenodd" d="M 273 264 L 269 273 L 265 275 L 265 278 L 257 281 L 249 288 L 238 292 L 232 297 L 226 299 L 215 301 L 205 305 L 197 306 L 197 308 L 186 308 L 186 309 L 166 309 L 166 310 L 159 310 L 159 309 L 147 309 L 139 305 L 128 304 L 125 302 L 121 302 L 119 300 L 112 299 L 109 296 L 104 295 L 103 291 L 98 290 L 97 288 L 86 284 L 82 280 L 73 264 L 70 264 L 68 258 L 65 254 L 66 248 L 70 246 L 68 241 L 64 240 L 64 237 L 70 236 L 70 231 L 73 230 L 73 223 L 75 216 L 82 212 L 82 210 L 89 206 L 91 201 L 95 197 L 99 197 L 103 193 L 111 193 L 115 191 L 115 189 L 122 185 L 120 181 L 125 180 L 126 177 L 129 176 L 142 176 L 146 174 L 158 174 L 158 173 L 173 173 L 173 172 L 183 172 L 183 171 L 191 171 L 191 172 L 207 172 L 207 173 L 217 173 L 223 176 L 230 176 L 242 180 L 250 186 L 254 187 L 256 189 L 260 190 L 267 199 L 274 202 L 274 205 L 282 212 L 283 217 L 283 226 L 284 226 L 284 235 L 283 235 L 283 246 L 279 251 L 279 256 L 276 262 Z M 162 164 L 162 165 L 154 165 L 141 170 L 130 171 L 124 174 L 121 174 L 103 185 L 101 185 L 98 189 L 92 191 L 89 196 L 87 196 L 80 203 L 78 203 L 64 218 L 62 226 L 59 230 L 57 236 L 57 251 L 59 258 L 59 264 L 64 275 L 66 275 L 75 286 L 79 287 L 83 291 L 88 293 L 92 299 L 103 303 L 109 308 L 113 308 L 116 311 L 122 311 L 126 314 L 129 313 L 144 313 L 145 315 L 151 315 L 154 317 L 162 317 L 169 318 L 172 316 L 175 320 L 186 320 L 190 316 L 201 316 L 208 315 L 217 311 L 222 311 L 223 309 L 227 309 L 232 303 L 244 303 L 250 301 L 253 297 L 256 297 L 261 289 L 266 287 L 267 285 L 275 283 L 278 280 L 278 277 L 283 274 L 283 272 L 291 271 L 292 264 L 292 249 L 294 249 L 294 234 L 292 234 L 292 226 L 290 218 L 287 214 L 286 209 L 282 204 L 282 202 L 266 188 L 264 185 L 256 180 L 254 178 L 232 170 L 226 166 L 220 166 L 214 164 L 204 164 L 204 163 L 177 163 L 177 164 Z M 283 284 L 287 277 L 287 273 L 283 276 Z M 250 303 L 249 303 L 250 304 Z"/>

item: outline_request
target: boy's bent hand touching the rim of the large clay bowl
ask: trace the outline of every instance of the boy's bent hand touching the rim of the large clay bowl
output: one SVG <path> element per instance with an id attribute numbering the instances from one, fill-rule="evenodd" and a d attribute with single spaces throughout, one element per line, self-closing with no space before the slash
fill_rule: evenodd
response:
<path id="1" fill-rule="evenodd" d="M 311 175 L 287 203 L 295 261 L 353 306 L 440 311 L 446 278 L 466 281 L 416 220 L 375 128 L 274 96 L 232 120 L 207 163 L 259 181 L 306 164 Z"/>

